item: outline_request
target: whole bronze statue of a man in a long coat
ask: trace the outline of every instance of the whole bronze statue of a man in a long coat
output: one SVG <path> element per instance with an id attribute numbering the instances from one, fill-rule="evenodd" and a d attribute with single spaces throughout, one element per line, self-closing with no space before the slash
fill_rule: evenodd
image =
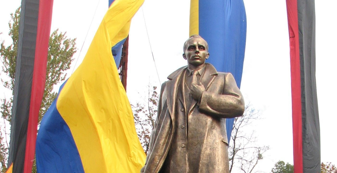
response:
<path id="1" fill-rule="evenodd" d="M 199 35 L 183 46 L 187 66 L 161 86 L 158 115 L 144 173 L 229 173 L 226 119 L 241 116 L 244 100 L 231 73 L 205 60 Z"/>

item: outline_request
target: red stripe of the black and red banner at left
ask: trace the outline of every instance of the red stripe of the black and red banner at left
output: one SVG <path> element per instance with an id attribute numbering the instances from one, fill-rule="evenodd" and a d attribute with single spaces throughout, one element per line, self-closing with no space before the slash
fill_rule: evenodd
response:
<path id="1" fill-rule="evenodd" d="M 30 98 L 29 119 L 27 129 L 27 142 L 24 162 L 24 173 L 31 173 L 37 134 L 37 123 L 41 101 L 44 92 L 47 72 L 47 56 L 49 47 L 50 28 L 53 13 L 53 0 L 39 1 L 39 14 L 37 21 L 35 61 Z"/>

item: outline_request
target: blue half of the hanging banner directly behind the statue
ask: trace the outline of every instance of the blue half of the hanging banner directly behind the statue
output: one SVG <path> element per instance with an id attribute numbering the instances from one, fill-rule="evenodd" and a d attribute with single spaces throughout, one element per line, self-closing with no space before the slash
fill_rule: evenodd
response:
<path id="1" fill-rule="evenodd" d="M 243 0 L 199 0 L 199 35 L 209 45 L 211 63 L 220 72 L 233 74 L 241 85 L 246 47 L 246 11 Z M 234 118 L 226 119 L 228 142 Z"/>

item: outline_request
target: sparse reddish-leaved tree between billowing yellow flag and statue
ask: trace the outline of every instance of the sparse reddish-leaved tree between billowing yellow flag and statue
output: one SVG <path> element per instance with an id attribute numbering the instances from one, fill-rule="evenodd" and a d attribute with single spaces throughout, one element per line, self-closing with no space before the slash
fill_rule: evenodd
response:
<path id="1" fill-rule="evenodd" d="M 154 128 L 154 121 L 158 111 L 157 106 L 159 97 L 156 89 L 156 86 L 152 86 L 152 89 L 150 89 L 149 85 L 146 104 L 140 102 L 137 102 L 135 105 L 131 104 L 132 110 L 134 112 L 136 131 L 145 154 L 147 154 L 149 151 L 150 137 Z"/>

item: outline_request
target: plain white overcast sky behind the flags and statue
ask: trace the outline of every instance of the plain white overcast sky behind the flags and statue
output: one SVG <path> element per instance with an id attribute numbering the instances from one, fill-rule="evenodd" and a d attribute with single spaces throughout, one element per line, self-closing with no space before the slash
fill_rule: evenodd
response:
<path id="1" fill-rule="evenodd" d="M 283 160 L 293 163 L 292 111 L 290 91 L 289 39 L 285 0 L 244 0 L 247 13 L 246 54 L 241 92 L 246 103 L 262 112 L 262 120 L 253 123 L 259 144 L 271 149 L 255 171 L 270 172 Z M 0 40 L 10 43 L 9 13 L 20 0 L 0 2 Z M 98 4 L 98 5 L 97 5 Z M 97 11 L 95 9 L 97 6 Z M 316 81 L 320 117 L 321 161 L 337 164 L 336 138 L 336 18 L 337 1 L 316 1 Z M 78 53 L 73 68 L 78 67 L 108 8 L 108 0 L 54 1 L 52 31 L 59 28 L 77 38 Z M 160 81 L 186 65 L 182 46 L 189 32 L 189 0 L 146 0 L 132 20 L 129 40 L 127 94 L 131 103 L 141 101 L 147 85 L 160 82 L 147 38 L 143 11 Z M 95 13 L 95 15 L 94 15 Z M 88 28 L 93 19 L 89 34 Z M 85 40 L 85 42 L 84 42 Z M 83 50 L 80 54 L 81 46 Z M 212 58 L 212 53 L 210 58 Z M 78 62 L 75 65 L 76 59 Z M 1 86 L 0 96 L 6 94 Z M 7 95 L 7 94 L 6 94 Z"/>

